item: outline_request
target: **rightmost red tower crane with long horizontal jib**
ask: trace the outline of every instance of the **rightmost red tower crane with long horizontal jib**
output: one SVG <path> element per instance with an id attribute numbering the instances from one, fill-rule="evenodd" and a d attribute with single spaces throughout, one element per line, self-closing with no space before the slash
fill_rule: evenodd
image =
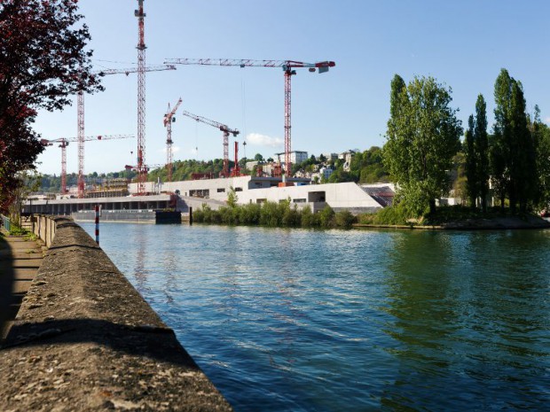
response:
<path id="1" fill-rule="evenodd" d="M 285 167 L 287 177 L 291 174 L 291 78 L 296 74 L 295 68 L 308 67 L 310 72 L 328 72 L 330 67 L 336 66 L 334 61 L 319 61 L 317 63 L 303 63 L 294 60 L 251 60 L 237 58 L 167 58 L 164 63 L 175 65 L 200 65 L 200 66 L 254 66 L 254 67 L 281 67 L 285 73 Z"/>

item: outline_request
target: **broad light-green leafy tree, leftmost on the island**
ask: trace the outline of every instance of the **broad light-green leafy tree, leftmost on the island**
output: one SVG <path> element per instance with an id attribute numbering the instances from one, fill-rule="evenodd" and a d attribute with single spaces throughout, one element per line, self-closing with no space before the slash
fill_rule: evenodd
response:
<path id="1" fill-rule="evenodd" d="M 434 212 L 436 198 L 449 194 L 452 157 L 460 149 L 462 128 L 450 107 L 452 90 L 433 77 L 415 77 L 405 87 L 391 83 L 388 141 L 384 164 L 411 213 Z"/>

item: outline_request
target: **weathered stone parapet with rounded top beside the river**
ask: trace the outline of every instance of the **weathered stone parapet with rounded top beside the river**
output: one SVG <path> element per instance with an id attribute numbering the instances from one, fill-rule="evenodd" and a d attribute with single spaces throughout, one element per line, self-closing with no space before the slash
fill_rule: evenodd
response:
<path id="1" fill-rule="evenodd" d="M 56 222 L 0 351 L 0 410 L 232 410 L 90 236 Z"/>

